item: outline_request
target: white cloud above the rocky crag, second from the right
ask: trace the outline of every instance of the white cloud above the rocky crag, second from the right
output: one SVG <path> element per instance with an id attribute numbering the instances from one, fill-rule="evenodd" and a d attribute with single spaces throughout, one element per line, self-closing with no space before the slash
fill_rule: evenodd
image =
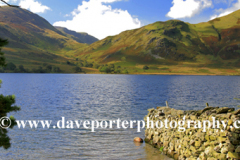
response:
<path id="1" fill-rule="evenodd" d="M 211 0 L 173 0 L 173 6 L 167 13 L 170 18 L 191 18 L 204 8 L 212 6 Z"/>

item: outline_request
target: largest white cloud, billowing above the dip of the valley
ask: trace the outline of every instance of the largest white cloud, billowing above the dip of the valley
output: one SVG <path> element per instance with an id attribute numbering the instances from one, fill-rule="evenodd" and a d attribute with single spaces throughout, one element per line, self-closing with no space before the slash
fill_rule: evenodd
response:
<path id="1" fill-rule="evenodd" d="M 72 14 L 72 20 L 55 22 L 54 26 L 66 27 L 77 32 L 87 32 L 103 39 L 122 31 L 141 27 L 138 18 L 134 18 L 127 10 L 112 9 L 108 3 L 121 0 L 83 1 Z"/>

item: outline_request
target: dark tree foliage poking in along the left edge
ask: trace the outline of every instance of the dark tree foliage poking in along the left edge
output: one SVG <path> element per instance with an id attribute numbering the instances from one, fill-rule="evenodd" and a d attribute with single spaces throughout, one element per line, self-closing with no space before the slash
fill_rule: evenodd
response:
<path id="1" fill-rule="evenodd" d="M 6 66 L 4 53 L 2 52 L 2 47 L 6 45 L 8 42 L 7 40 L 0 39 L 0 66 Z M 0 81 L 0 84 L 2 81 Z M 0 118 L 6 117 L 9 112 L 12 111 L 19 111 L 20 107 L 13 105 L 15 103 L 15 96 L 9 95 L 4 96 L 0 95 Z M 15 118 L 13 116 L 10 116 L 11 125 L 10 128 L 13 128 L 13 126 L 16 125 Z M 8 122 L 8 121 L 7 121 Z M 3 147 L 4 149 L 8 149 L 11 147 L 10 138 L 7 135 L 7 129 L 0 127 L 0 147 Z"/>

